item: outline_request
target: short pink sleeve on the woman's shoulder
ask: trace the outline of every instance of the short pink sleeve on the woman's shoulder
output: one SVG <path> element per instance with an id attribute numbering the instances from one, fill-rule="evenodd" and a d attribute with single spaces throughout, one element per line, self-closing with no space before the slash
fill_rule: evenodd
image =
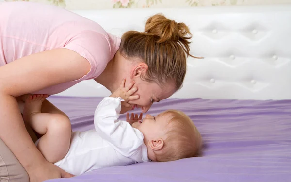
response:
<path id="1" fill-rule="evenodd" d="M 91 69 L 87 75 L 79 80 L 88 80 L 98 77 L 110 61 L 111 47 L 106 35 L 94 31 L 82 31 L 71 38 L 64 48 L 73 50 L 86 58 Z"/>

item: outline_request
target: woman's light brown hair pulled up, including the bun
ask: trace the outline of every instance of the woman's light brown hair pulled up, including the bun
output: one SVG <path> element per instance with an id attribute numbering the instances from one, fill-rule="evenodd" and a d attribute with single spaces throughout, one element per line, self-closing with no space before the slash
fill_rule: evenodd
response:
<path id="1" fill-rule="evenodd" d="M 148 70 L 142 79 L 148 82 L 174 81 L 178 90 L 186 74 L 192 34 L 184 23 L 156 14 L 146 21 L 145 31 L 128 31 L 121 37 L 119 51 L 127 58 L 143 60 Z M 194 57 L 197 58 L 197 57 Z"/>

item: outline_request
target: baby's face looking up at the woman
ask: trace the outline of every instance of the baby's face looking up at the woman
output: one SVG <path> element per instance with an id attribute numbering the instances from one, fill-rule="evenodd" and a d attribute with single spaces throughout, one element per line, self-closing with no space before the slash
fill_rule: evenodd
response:
<path id="1" fill-rule="evenodd" d="M 149 140 L 156 140 L 164 138 L 168 121 L 171 119 L 169 114 L 160 113 L 158 116 L 146 115 L 142 122 L 132 124 L 132 127 L 141 131 L 145 137 L 145 142 Z"/>

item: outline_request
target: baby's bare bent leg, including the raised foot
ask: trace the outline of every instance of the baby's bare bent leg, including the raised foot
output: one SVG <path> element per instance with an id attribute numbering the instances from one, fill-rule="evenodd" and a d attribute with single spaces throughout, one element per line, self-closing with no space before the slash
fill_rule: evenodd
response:
<path id="1" fill-rule="evenodd" d="M 71 123 L 62 114 L 41 113 L 46 95 L 25 96 L 23 119 L 32 129 L 43 135 L 37 148 L 47 161 L 55 163 L 63 159 L 70 146 Z"/>

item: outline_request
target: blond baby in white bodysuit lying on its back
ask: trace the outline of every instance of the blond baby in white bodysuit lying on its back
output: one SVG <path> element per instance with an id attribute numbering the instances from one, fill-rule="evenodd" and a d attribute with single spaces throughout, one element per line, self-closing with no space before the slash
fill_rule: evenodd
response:
<path id="1" fill-rule="evenodd" d="M 139 118 L 134 114 L 129 118 L 127 114 L 127 121 L 118 120 L 121 105 L 138 99 L 132 95 L 137 91 L 136 85 L 124 84 L 125 79 L 119 89 L 99 103 L 95 129 L 84 132 L 71 132 L 66 116 L 41 113 L 46 95 L 27 97 L 23 117 L 42 135 L 35 144 L 44 157 L 65 171 L 80 175 L 101 167 L 197 156 L 201 136 L 183 112 L 167 110 L 143 119 L 142 114 Z"/>

